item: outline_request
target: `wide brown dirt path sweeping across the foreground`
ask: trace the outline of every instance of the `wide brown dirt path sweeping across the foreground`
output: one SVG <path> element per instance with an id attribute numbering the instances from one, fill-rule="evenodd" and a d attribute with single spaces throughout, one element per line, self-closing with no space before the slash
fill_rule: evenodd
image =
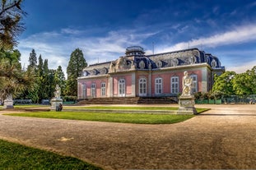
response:
<path id="1" fill-rule="evenodd" d="M 255 169 L 256 105 L 197 107 L 212 110 L 172 125 L 0 114 L 0 138 L 72 155 L 105 169 Z"/>

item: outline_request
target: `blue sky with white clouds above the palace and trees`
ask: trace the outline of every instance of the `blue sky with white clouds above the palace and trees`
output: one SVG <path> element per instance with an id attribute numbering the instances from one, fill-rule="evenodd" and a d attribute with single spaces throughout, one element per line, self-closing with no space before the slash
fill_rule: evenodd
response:
<path id="1" fill-rule="evenodd" d="M 34 48 L 63 67 L 80 48 L 88 64 L 108 62 L 140 45 L 151 54 L 199 48 L 226 71 L 256 66 L 255 0 L 25 0 L 26 31 L 17 48 L 28 64 Z"/>

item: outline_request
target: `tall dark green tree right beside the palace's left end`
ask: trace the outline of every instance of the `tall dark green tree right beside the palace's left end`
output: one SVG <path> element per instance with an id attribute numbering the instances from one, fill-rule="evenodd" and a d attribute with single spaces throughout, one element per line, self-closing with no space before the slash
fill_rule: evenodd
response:
<path id="1" fill-rule="evenodd" d="M 83 57 L 81 49 L 77 48 L 72 52 L 67 65 L 66 95 L 77 96 L 77 77 L 81 76 L 85 67 L 87 67 L 86 59 Z"/>

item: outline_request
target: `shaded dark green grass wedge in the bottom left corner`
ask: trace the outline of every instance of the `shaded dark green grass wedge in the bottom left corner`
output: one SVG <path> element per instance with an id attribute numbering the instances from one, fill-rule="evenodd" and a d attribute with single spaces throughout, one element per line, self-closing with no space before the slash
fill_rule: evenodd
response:
<path id="1" fill-rule="evenodd" d="M 1 169 L 101 169 L 80 159 L 0 140 Z"/>

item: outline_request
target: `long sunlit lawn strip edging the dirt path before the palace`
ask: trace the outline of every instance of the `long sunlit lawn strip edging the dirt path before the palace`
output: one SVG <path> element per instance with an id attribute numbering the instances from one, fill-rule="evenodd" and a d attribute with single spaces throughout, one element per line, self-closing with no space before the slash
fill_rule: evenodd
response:
<path id="1" fill-rule="evenodd" d="M 69 120 L 98 121 L 98 122 L 123 122 L 141 124 L 170 124 L 183 122 L 194 115 L 171 114 L 140 114 L 140 113 L 89 113 L 89 112 L 32 112 L 32 113 L 8 113 L 11 116 L 20 117 L 44 117 Z"/>

